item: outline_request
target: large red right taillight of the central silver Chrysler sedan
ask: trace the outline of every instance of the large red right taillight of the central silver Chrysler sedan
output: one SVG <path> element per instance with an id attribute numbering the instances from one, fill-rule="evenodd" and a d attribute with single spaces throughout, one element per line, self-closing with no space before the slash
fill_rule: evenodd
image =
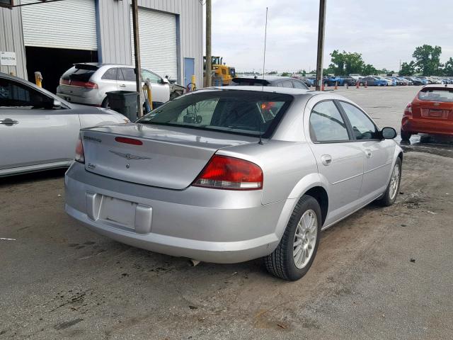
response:
<path id="1" fill-rule="evenodd" d="M 214 155 L 193 186 L 229 190 L 260 190 L 263 170 L 243 159 Z"/>

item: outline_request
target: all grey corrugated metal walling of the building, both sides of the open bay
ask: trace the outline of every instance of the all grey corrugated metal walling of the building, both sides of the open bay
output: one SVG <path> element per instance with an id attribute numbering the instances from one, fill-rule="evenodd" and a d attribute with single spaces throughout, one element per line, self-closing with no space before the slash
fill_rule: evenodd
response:
<path id="1" fill-rule="evenodd" d="M 98 8 L 98 55 L 103 62 L 132 64 L 130 43 L 130 0 L 93 0 Z M 17 1 L 16 3 L 19 3 Z M 139 6 L 176 14 L 178 39 L 178 82 L 183 84 L 183 60 L 195 58 L 197 86 L 202 86 L 203 26 L 200 0 L 139 0 Z M 46 4 L 37 6 L 47 6 Z M 57 29 L 57 28 L 56 28 Z M 21 8 L 0 8 L 0 50 L 16 52 L 18 67 L 1 67 L 26 78 Z"/>

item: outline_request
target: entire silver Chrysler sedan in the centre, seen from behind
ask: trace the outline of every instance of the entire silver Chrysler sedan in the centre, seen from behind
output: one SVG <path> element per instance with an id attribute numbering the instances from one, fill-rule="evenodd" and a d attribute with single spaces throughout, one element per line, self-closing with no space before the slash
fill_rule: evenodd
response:
<path id="1" fill-rule="evenodd" d="M 216 263 L 264 257 L 270 273 L 297 280 L 322 229 L 394 203 L 395 136 L 336 94 L 194 91 L 137 123 L 81 130 L 65 208 L 119 242 Z"/>

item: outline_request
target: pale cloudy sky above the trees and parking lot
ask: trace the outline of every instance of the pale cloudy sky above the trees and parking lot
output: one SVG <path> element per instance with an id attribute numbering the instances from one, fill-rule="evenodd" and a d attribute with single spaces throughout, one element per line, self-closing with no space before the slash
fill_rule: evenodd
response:
<path id="1" fill-rule="evenodd" d="M 212 0 L 212 55 L 239 72 L 263 69 L 266 6 L 266 72 L 315 69 L 319 0 Z M 398 72 L 423 44 L 442 47 L 445 62 L 453 57 L 453 0 L 327 0 L 324 44 L 325 68 L 329 53 L 345 50 Z"/>

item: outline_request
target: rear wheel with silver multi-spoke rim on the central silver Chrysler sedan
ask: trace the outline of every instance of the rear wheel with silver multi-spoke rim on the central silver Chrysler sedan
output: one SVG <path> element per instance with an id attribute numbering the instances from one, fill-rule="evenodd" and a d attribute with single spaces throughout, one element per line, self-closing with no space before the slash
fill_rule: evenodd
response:
<path id="1" fill-rule="evenodd" d="M 321 208 L 311 196 L 302 196 L 294 208 L 282 239 L 266 256 L 268 272 L 284 280 L 299 280 L 309 271 L 321 235 Z"/>

